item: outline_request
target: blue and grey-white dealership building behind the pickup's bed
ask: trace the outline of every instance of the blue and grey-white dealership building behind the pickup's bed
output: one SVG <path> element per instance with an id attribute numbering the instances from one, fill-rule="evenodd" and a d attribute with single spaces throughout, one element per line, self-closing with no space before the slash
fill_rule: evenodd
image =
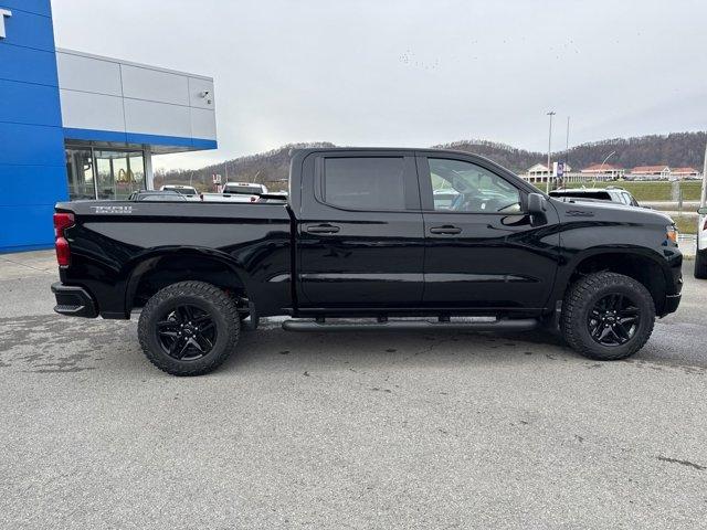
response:
<path id="1" fill-rule="evenodd" d="M 57 49 L 50 0 L 0 0 L 0 252 L 53 245 L 57 201 L 126 199 L 152 155 L 217 148 L 213 80 Z"/>

